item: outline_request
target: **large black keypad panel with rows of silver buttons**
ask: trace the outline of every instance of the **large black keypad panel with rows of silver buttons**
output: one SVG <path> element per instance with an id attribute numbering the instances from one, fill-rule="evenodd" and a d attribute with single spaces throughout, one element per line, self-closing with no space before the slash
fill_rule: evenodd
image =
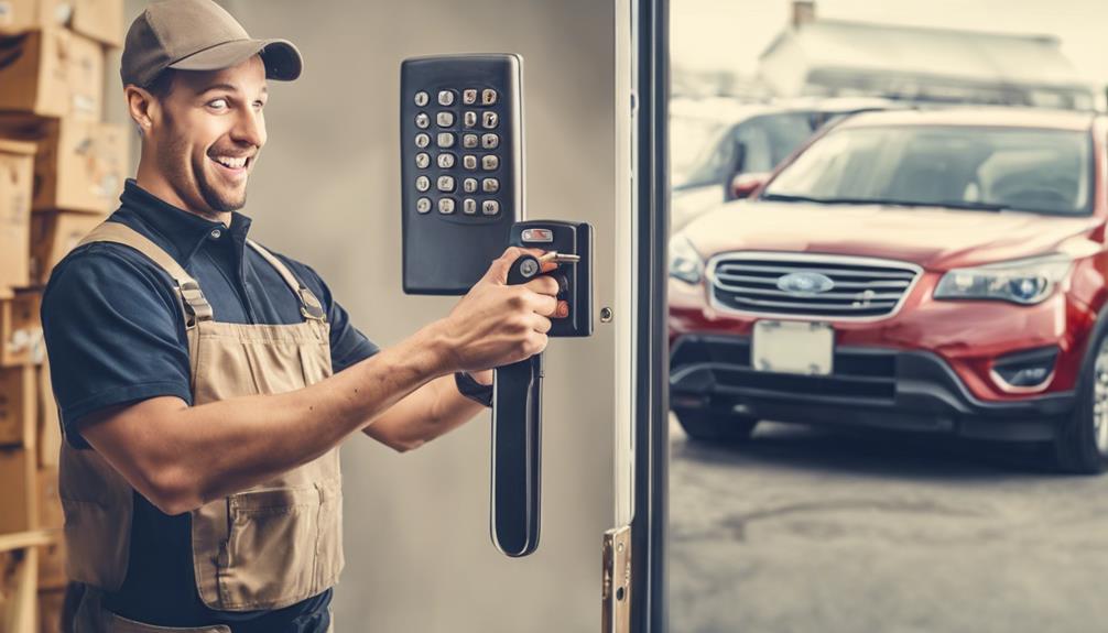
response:
<path id="1" fill-rule="evenodd" d="M 404 292 L 464 294 L 523 219 L 521 76 L 514 54 L 401 64 Z"/>

